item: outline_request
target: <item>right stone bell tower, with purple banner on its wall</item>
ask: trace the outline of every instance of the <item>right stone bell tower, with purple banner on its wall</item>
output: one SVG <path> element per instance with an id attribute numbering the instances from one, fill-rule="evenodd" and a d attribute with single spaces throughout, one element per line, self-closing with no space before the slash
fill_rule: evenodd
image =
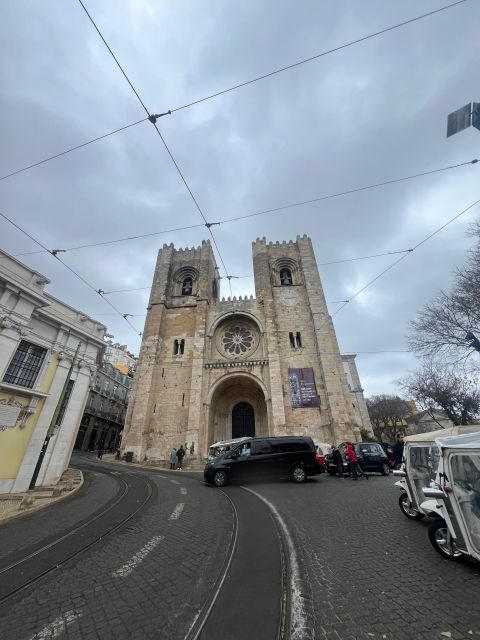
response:
<path id="1" fill-rule="evenodd" d="M 317 442 L 358 439 L 351 394 L 310 238 L 304 235 L 295 242 L 275 243 L 257 239 L 252 251 L 255 291 L 265 316 L 276 432 L 310 435 Z M 312 372 L 317 397 L 311 399 L 311 406 L 302 402 L 294 406 L 293 371 Z"/>

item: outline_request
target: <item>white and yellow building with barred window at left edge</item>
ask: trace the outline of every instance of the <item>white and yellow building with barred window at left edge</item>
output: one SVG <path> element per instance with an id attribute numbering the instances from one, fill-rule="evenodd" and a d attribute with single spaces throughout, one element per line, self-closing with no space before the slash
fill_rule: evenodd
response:
<path id="1" fill-rule="evenodd" d="M 79 345 L 36 485 L 58 482 L 105 348 L 105 327 L 47 294 L 48 283 L 0 251 L 0 493 L 28 489 Z"/>

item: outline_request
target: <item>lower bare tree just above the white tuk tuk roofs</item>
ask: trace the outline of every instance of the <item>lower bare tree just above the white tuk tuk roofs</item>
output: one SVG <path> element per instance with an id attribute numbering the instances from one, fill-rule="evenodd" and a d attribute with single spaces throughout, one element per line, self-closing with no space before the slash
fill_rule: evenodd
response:
<path id="1" fill-rule="evenodd" d="M 480 390 L 474 375 L 426 360 L 422 367 L 399 381 L 409 397 L 428 411 L 442 410 L 453 424 L 472 424 L 480 415 Z"/>

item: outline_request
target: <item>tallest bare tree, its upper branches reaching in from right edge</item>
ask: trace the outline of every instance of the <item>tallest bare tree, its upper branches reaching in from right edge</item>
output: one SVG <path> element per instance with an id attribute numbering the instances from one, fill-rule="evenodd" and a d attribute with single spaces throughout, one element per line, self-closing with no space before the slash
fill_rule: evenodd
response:
<path id="1" fill-rule="evenodd" d="M 470 227 L 475 245 L 467 262 L 457 268 L 450 292 L 441 291 L 410 323 L 410 348 L 420 356 L 467 360 L 480 351 L 480 222 Z"/>

